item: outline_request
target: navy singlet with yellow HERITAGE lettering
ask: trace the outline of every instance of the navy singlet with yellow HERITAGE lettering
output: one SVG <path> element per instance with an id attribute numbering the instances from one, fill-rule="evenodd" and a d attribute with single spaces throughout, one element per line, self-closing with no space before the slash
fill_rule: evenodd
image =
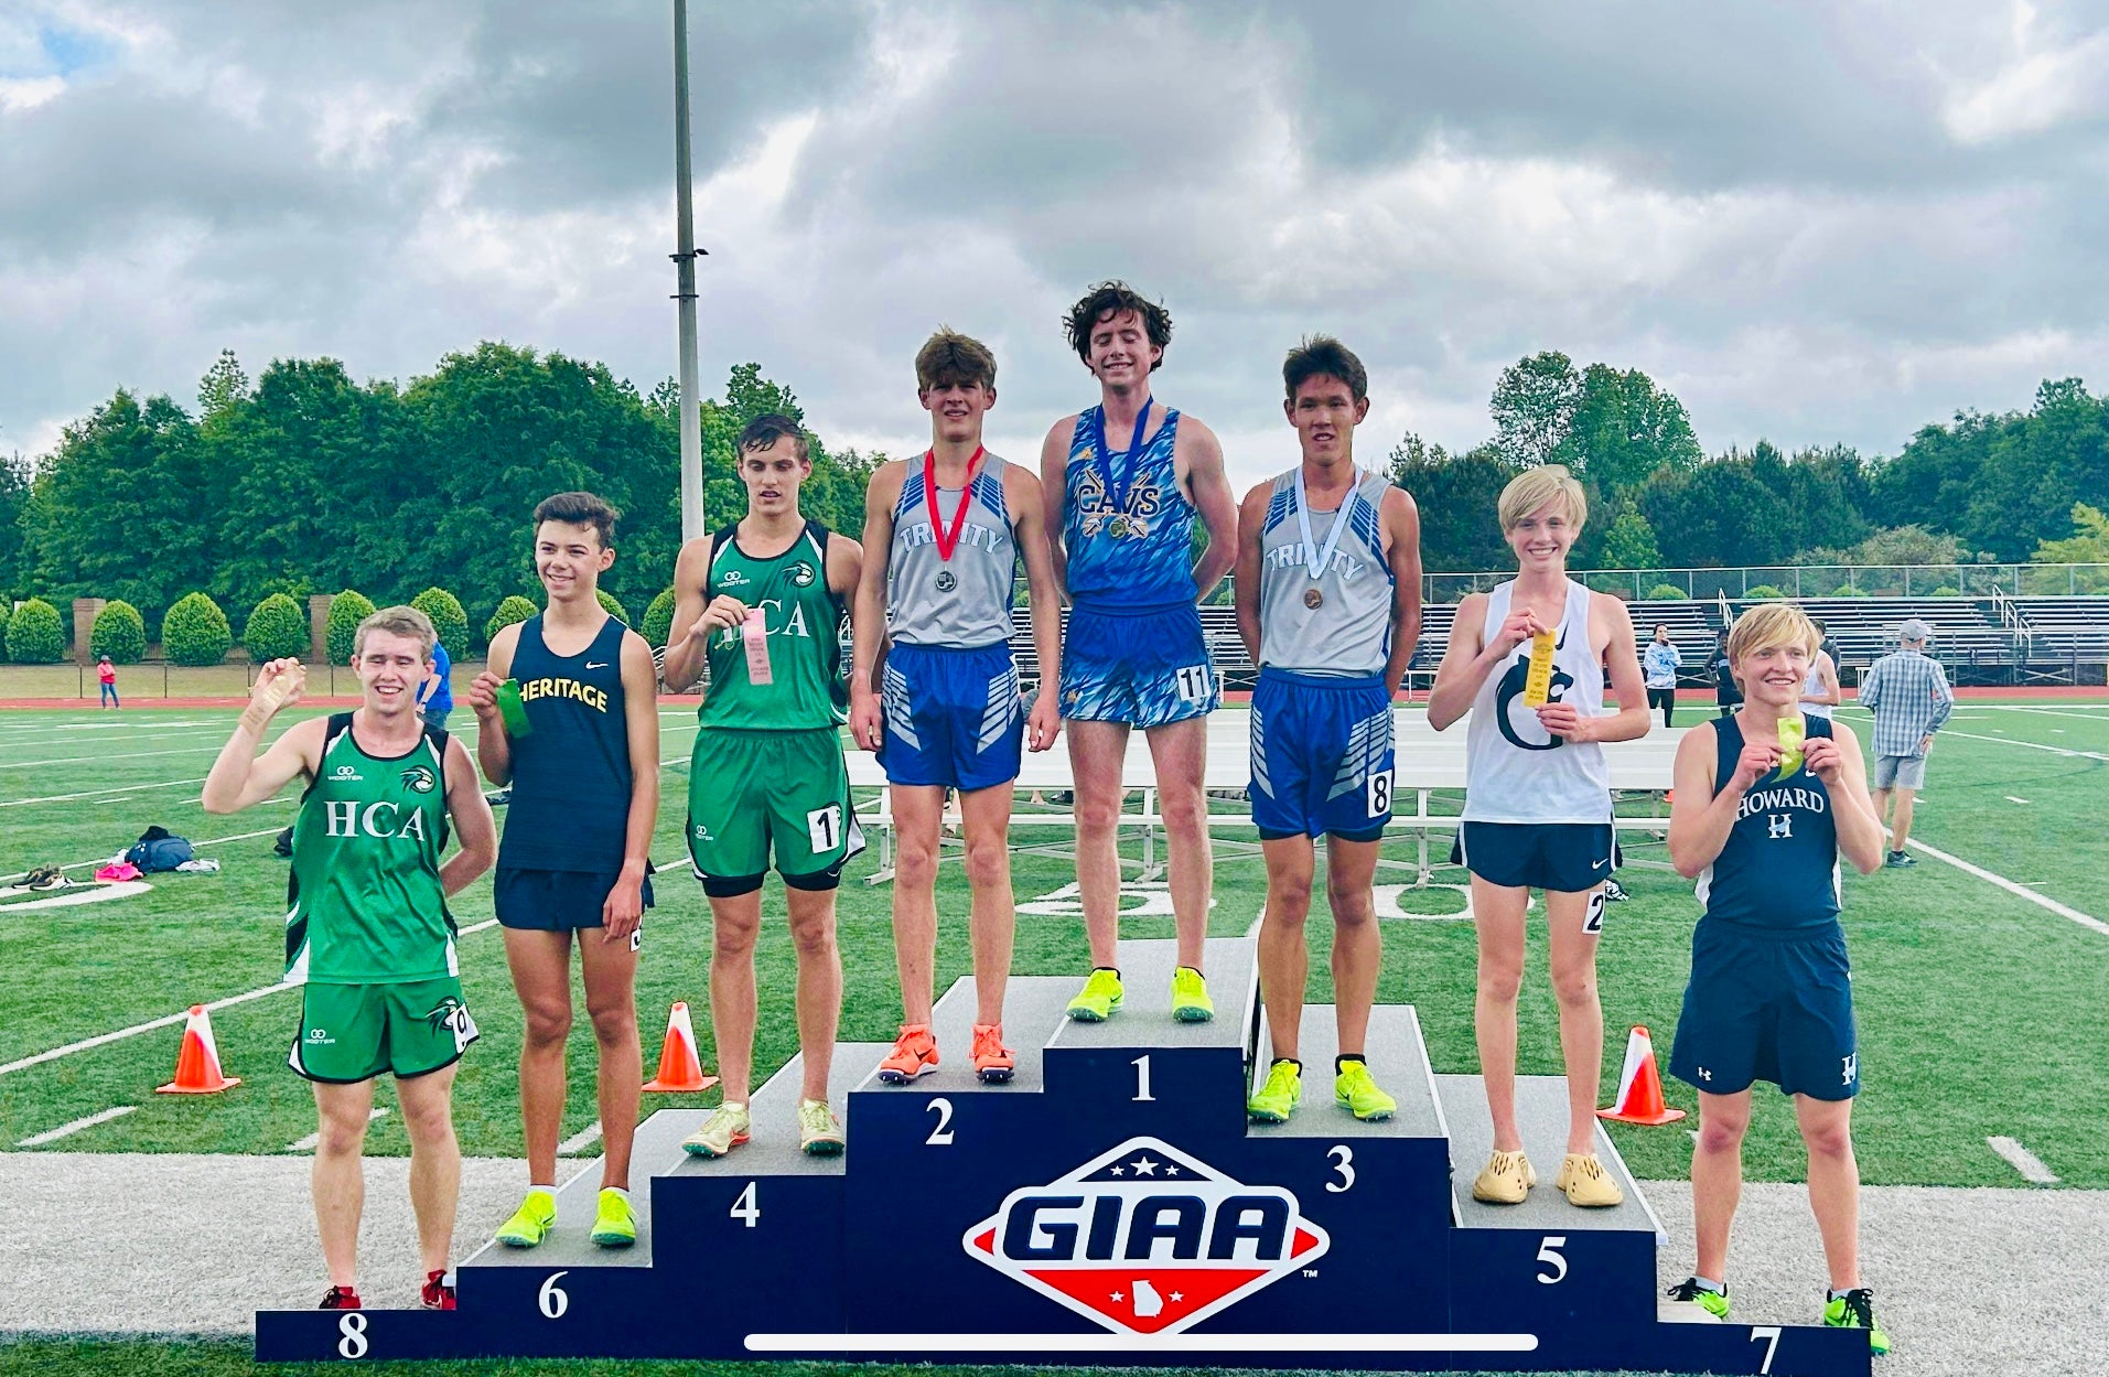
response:
<path id="1" fill-rule="evenodd" d="M 622 633 L 607 618 L 593 643 L 559 656 L 542 618 L 521 624 L 512 677 L 534 725 L 512 740 L 512 803 L 498 865 L 529 871 L 622 869 L 631 827 L 631 740 L 622 711 Z"/>

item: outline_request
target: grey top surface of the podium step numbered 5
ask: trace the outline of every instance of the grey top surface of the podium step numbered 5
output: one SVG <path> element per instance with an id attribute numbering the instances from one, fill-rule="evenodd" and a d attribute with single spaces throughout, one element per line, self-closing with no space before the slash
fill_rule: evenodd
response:
<path id="1" fill-rule="evenodd" d="M 1666 1242 L 1662 1221 L 1647 1206 L 1641 1185 L 1626 1170 L 1626 1160 L 1618 1156 L 1611 1137 L 1597 1124 L 1597 1156 L 1605 1170 L 1626 1191 L 1622 1204 L 1601 1210 L 1582 1210 L 1567 1204 L 1567 1198 L 1552 1189 L 1552 1177 L 1567 1156 L 1567 1078 L 1565 1075 L 1518 1075 L 1516 1078 L 1516 1124 L 1523 1130 L 1523 1151 L 1537 1170 L 1537 1189 L 1523 1204 L 1481 1204 L 1472 1200 L 1472 1181 L 1493 1153 L 1493 1122 L 1487 1118 L 1487 1090 L 1478 1075 L 1436 1075 L 1436 1094 L 1443 1103 L 1443 1120 L 1449 1126 L 1451 1143 L 1451 1196 L 1459 1227 L 1466 1229 L 1529 1229 L 1582 1231 L 1582 1229 L 1637 1229 L 1649 1231 Z"/>

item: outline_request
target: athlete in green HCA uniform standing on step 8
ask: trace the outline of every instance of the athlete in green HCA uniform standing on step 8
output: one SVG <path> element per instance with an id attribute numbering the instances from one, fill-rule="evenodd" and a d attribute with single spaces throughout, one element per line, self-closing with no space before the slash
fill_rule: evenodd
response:
<path id="1" fill-rule="evenodd" d="M 205 780 L 205 812 L 215 814 L 308 780 L 293 822 L 285 957 L 287 981 L 302 985 L 289 1061 L 314 1082 L 321 1118 L 323 1310 L 359 1310 L 359 1153 L 382 1073 L 396 1078 L 409 1132 L 422 1301 L 453 1310 L 447 1248 L 462 1187 L 453 1063 L 477 1040 L 477 1023 L 462 1002 L 447 896 L 489 869 L 498 833 L 468 751 L 418 715 L 432 641 L 432 622 L 415 607 L 375 612 L 352 639 L 359 711 L 297 721 L 259 755 L 272 717 L 302 685 L 297 660 L 272 660 Z M 443 862 L 449 831 L 460 850 Z"/>

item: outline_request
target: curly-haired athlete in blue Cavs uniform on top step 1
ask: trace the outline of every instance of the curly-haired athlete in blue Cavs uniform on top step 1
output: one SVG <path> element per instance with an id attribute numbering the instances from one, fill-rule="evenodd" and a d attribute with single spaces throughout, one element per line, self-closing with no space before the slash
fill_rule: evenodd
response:
<path id="1" fill-rule="evenodd" d="M 1090 936 L 1090 978 L 1069 1016 L 1109 1019 L 1120 985 L 1120 768 L 1143 728 L 1156 763 L 1170 858 L 1179 966 L 1173 1016 L 1215 1016 L 1202 981 L 1208 934 L 1206 717 L 1221 700 L 1196 603 L 1236 557 L 1238 502 L 1215 434 L 1158 407 L 1149 380 L 1173 318 L 1122 283 L 1069 310 L 1069 344 L 1099 380 L 1099 405 L 1065 415 L 1040 447 L 1046 531 L 1073 612 L 1061 662 L 1061 715 L 1076 774 L 1076 879 Z M 1109 437 L 1126 441 L 1114 449 Z M 1052 493 L 1061 493 L 1057 500 Z M 1194 521 L 1206 544 L 1194 555 Z"/>

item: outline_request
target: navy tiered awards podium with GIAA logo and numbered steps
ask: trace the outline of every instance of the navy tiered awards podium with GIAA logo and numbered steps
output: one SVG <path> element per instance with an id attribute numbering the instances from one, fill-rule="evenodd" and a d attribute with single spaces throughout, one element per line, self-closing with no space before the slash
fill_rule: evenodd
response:
<path id="1" fill-rule="evenodd" d="M 1871 1371 L 1862 1331 L 1662 1322 L 1660 1225 L 1611 1141 L 1599 1130 L 1624 1204 L 1580 1210 L 1550 1187 L 1559 1078 L 1516 1088 L 1544 1183 L 1476 1204 L 1478 1078 L 1432 1073 L 1411 1006 L 1379 1004 L 1369 1031 L 1392 1120 L 1331 1103 L 1333 1008 L 1312 1004 L 1303 1107 L 1261 1126 L 1244 1118 L 1268 1048 L 1251 938 L 1208 943 L 1213 1023 L 1173 1023 L 1173 943 L 1122 943 L 1122 962 L 1126 1008 L 1107 1023 L 1063 1019 L 1073 976 L 1010 981 L 1008 1086 L 972 1075 L 960 981 L 934 1014 L 939 1071 L 884 1086 L 888 1046 L 835 1048 L 846 1156 L 797 1151 L 793 1059 L 728 1158 L 681 1151 L 702 1109 L 639 1126 L 635 1248 L 586 1240 L 588 1166 L 548 1242 L 458 1267 L 458 1310 L 259 1312 L 257 1360 Z"/>

